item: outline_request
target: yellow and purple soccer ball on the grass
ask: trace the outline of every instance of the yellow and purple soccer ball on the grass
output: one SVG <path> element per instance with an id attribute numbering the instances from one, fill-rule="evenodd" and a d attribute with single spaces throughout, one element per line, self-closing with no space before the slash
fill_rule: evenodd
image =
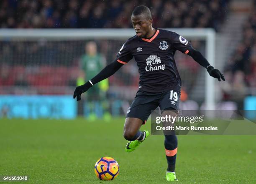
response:
<path id="1" fill-rule="evenodd" d="M 113 180 L 119 174 L 119 166 L 115 159 L 104 156 L 97 160 L 94 171 L 100 180 Z"/>

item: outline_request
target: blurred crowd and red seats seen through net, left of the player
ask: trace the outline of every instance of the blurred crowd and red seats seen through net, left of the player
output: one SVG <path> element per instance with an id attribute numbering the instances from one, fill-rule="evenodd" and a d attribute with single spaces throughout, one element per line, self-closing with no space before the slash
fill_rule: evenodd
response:
<path id="1" fill-rule="evenodd" d="M 101 59 L 100 62 L 105 63 L 106 58 L 110 63 L 123 42 L 124 40 L 97 40 L 97 53 L 104 56 L 104 60 Z M 86 40 L 2 41 L 0 42 L 2 48 L 0 49 L 0 86 L 76 86 L 82 56 L 87 53 L 85 49 L 87 43 Z M 94 62 L 91 62 L 89 66 L 93 64 Z M 128 66 L 128 70 L 127 68 L 120 70 L 110 78 L 110 81 L 115 81 L 115 84 L 120 86 L 137 85 L 138 72 L 131 67 L 136 66 L 131 65 Z M 43 89 L 38 93 L 66 93 L 59 89 L 60 91 L 56 92 Z"/>

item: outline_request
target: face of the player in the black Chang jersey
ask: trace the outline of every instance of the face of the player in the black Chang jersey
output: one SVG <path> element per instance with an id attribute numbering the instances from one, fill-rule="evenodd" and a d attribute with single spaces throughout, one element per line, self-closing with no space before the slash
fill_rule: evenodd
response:
<path id="1" fill-rule="evenodd" d="M 145 38 L 152 26 L 152 19 L 145 18 L 144 15 L 132 15 L 131 21 L 136 35 L 140 38 Z"/>

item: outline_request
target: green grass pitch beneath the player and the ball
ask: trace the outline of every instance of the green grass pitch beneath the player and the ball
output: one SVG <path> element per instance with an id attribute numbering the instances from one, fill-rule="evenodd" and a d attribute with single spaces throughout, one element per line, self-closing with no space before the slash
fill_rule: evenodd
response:
<path id="1" fill-rule="evenodd" d="M 25 184 L 168 183 L 164 136 L 149 136 L 138 150 L 126 153 L 123 123 L 124 118 L 112 122 L 2 119 L 0 175 L 27 175 Z M 142 129 L 150 130 L 150 124 Z M 175 183 L 256 184 L 256 136 L 178 139 Z M 120 173 L 113 181 L 95 176 L 94 164 L 102 156 L 118 161 Z"/>

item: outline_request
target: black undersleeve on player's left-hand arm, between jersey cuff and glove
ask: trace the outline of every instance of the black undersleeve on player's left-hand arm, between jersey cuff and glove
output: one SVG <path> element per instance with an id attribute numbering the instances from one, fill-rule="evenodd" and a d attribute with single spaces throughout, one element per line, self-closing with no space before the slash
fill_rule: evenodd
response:
<path id="1" fill-rule="evenodd" d="M 112 76 L 116 71 L 123 66 L 123 63 L 118 62 L 117 59 L 113 60 L 112 63 L 107 65 L 105 68 L 100 71 L 94 78 L 91 79 L 92 84 L 96 84 L 104 79 Z"/>

